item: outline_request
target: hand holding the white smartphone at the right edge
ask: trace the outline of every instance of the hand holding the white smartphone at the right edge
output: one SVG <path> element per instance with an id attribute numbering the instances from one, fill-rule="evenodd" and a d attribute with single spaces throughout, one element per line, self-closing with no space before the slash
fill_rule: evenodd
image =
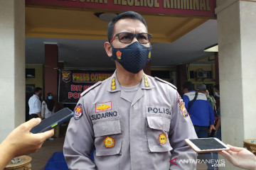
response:
<path id="1" fill-rule="evenodd" d="M 256 170 L 256 157 L 255 154 L 242 147 L 233 147 L 228 145 L 230 150 L 218 152 L 222 154 L 225 159 L 242 169 Z"/>

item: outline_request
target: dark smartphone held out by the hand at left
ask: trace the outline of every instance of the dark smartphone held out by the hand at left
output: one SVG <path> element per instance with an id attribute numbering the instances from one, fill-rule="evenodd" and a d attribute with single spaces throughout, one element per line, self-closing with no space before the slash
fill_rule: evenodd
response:
<path id="1" fill-rule="evenodd" d="M 54 113 L 49 118 L 43 119 L 41 123 L 31 129 L 31 133 L 46 132 L 54 128 L 56 125 L 60 125 L 70 120 L 74 116 L 74 112 L 69 108 L 63 108 L 60 111 Z"/>

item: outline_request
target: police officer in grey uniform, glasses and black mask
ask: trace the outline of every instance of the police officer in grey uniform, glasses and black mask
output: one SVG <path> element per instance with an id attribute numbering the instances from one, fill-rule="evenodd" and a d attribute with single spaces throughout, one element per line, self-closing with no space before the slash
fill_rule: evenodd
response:
<path id="1" fill-rule="evenodd" d="M 196 169 L 196 152 L 184 142 L 196 132 L 176 87 L 142 70 L 151 59 L 144 18 L 121 13 L 107 35 L 105 50 L 117 69 L 81 94 L 63 147 L 68 167 Z M 179 164 L 181 159 L 190 161 Z"/>

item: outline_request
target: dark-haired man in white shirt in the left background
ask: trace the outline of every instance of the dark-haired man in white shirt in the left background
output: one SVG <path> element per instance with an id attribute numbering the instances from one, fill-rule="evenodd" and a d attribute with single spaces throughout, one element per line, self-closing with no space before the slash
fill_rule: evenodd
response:
<path id="1" fill-rule="evenodd" d="M 41 115 L 42 110 L 42 104 L 39 98 L 42 96 L 42 88 L 36 87 L 34 90 L 33 96 L 29 98 L 28 100 L 28 106 L 29 106 L 29 119 L 31 118 L 41 118 L 43 119 Z"/>

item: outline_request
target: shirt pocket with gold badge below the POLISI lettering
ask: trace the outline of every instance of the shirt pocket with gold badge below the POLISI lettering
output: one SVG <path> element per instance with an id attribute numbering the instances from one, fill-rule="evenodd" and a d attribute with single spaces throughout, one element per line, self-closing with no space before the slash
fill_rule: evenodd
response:
<path id="1" fill-rule="evenodd" d="M 169 142 L 171 119 L 156 115 L 147 115 L 147 141 L 150 152 L 169 152 L 172 147 Z"/>

